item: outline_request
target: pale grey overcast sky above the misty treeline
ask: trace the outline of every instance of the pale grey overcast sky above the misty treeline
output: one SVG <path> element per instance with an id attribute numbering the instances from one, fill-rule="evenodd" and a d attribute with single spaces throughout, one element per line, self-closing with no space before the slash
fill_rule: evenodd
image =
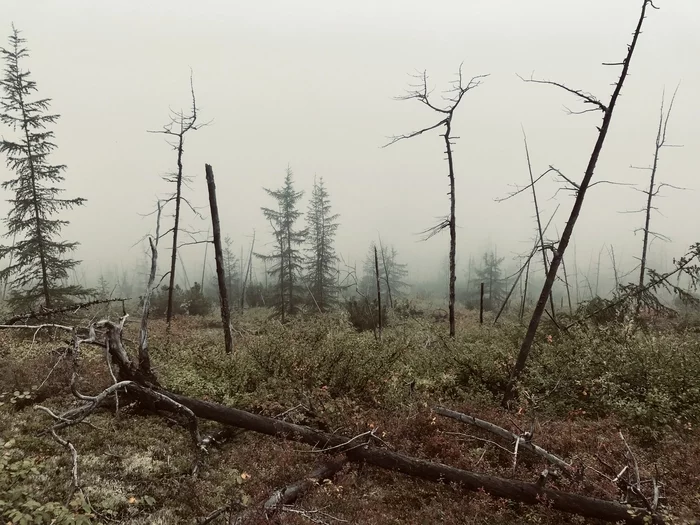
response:
<path id="1" fill-rule="evenodd" d="M 692 191 L 664 191 L 663 216 L 652 223 L 673 241 L 653 251 L 670 258 L 700 240 L 700 2 L 656 4 L 595 178 L 647 184 L 647 173 L 630 165 L 652 161 L 662 91 L 670 98 L 682 82 L 669 139 L 684 147 L 662 152 L 658 177 Z M 88 274 L 140 259 L 132 245 L 153 227 L 140 214 L 170 191 L 160 176 L 175 166 L 163 137 L 147 130 L 166 123 L 169 108 L 189 105 L 192 68 L 201 119 L 212 122 L 187 138 L 188 196 L 208 214 L 204 163 L 212 164 L 222 228 L 236 250 L 253 229 L 259 249 L 267 249 L 260 207 L 272 203 L 262 188 L 280 186 L 289 165 L 307 195 L 314 176 L 324 178 L 341 214 L 338 250 L 346 258 L 361 261 L 380 233 L 422 279 L 447 254 L 447 234 L 427 243 L 416 236 L 448 210 L 444 144 L 432 132 L 381 148 L 391 135 L 436 122 L 425 106 L 394 100 L 409 74 L 426 69 L 436 96 L 462 62 L 465 76 L 490 74 L 467 94 L 453 124 L 460 137 L 458 258 L 464 267 L 470 253 L 489 246 L 510 257 L 530 250 L 535 227 L 529 194 L 494 200 L 527 181 L 521 126 L 536 173 L 553 164 L 580 180 L 600 123 L 599 114 L 567 115 L 564 106 L 583 109 L 575 97 L 516 73 L 534 72 L 607 103 L 619 68 L 601 63 L 624 57 L 640 7 L 640 0 L 2 0 L 2 18 L 3 42 L 14 22 L 31 51 L 24 67 L 61 114 L 53 160 L 68 165 L 67 194 L 88 199 L 67 215 L 65 236 L 82 243 Z M 0 178 L 9 176 L 0 167 Z M 553 238 L 573 203 L 566 192 L 549 200 L 557 187 L 546 179 L 539 188 L 545 216 L 561 204 Z M 5 215 L 10 195 L 2 198 Z M 642 216 L 620 212 L 641 208 L 644 195 L 598 185 L 586 199 L 575 233 L 580 262 L 614 244 L 634 264 Z M 186 217 L 206 230 L 205 221 Z M 203 248 L 184 250 L 194 267 Z"/>

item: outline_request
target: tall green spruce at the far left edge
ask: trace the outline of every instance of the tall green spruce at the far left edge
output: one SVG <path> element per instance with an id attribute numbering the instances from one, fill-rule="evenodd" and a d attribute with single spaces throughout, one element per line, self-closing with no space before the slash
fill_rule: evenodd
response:
<path id="1" fill-rule="evenodd" d="M 61 229 L 68 221 L 56 218 L 63 211 L 82 206 L 85 199 L 60 198 L 64 190 L 58 185 L 64 180 L 66 167 L 50 164 L 49 155 L 56 145 L 54 133 L 47 129 L 59 115 L 48 113 L 50 99 L 34 97 L 36 82 L 20 67 L 29 51 L 14 26 L 9 41 L 8 49 L 0 48 L 5 62 L 0 80 L 0 122 L 17 136 L 15 140 L 0 140 L 0 153 L 6 155 L 7 166 L 16 175 L 2 183 L 3 189 L 14 192 L 4 236 L 16 236 L 16 242 L 0 246 L 0 258 L 11 255 L 12 260 L 0 271 L 0 280 L 10 283 L 12 309 L 38 304 L 55 308 L 91 294 L 79 285 L 68 284 L 68 273 L 79 261 L 66 256 L 78 243 L 61 239 Z"/>

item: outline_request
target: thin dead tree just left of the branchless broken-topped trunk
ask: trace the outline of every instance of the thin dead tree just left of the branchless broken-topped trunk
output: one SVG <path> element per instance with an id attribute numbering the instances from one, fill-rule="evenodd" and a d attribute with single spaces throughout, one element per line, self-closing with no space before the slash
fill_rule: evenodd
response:
<path id="1" fill-rule="evenodd" d="M 169 144 L 177 152 L 177 171 L 173 174 L 166 175 L 164 180 L 175 184 L 175 193 L 169 197 L 166 202 L 175 202 L 175 220 L 173 223 L 173 247 L 170 252 L 170 283 L 168 289 L 168 309 L 166 313 L 166 320 L 168 325 L 173 317 L 173 292 L 175 289 L 175 264 L 177 263 L 177 238 L 180 231 L 180 212 L 182 208 L 182 203 L 186 203 L 190 209 L 194 211 L 189 201 L 182 195 L 182 186 L 184 182 L 187 182 L 187 178 L 183 174 L 182 168 L 182 155 L 184 153 L 185 147 L 185 135 L 190 131 L 196 131 L 199 126 L 196 125 L 197 122 L 197 101 L 194 96 L 194 85 L 192 83 L 192 74 L 190 73 L 190 93 L 192 94 L 192 109 L 190 113 L 185 113 L 183 111 L 172 111 L 170 115 L 170 122 L 163 126 L 163 129 L 158 131 L 149 131 L 149 133 L 160 133 L 168 137 L 173 138 L 173 142 Z M 196 212 L 195 212 L 196 213 Z"/>

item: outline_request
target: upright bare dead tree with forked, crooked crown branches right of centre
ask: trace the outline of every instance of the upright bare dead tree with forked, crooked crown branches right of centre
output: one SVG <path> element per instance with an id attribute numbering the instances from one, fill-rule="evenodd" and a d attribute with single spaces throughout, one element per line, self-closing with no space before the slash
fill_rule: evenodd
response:
<path id="1" fill-rule="evenodd" d="M 450 337 L 455 336 L 455 282 L 457 280 L 455 271 L 455 260 L 457 254 L 457 222 L 455 218 L 455 171 L 454 162 L 452 157 L 452 146 L 454 146 L 453 140 L 457 137 L 452 137 L 452 117 L 454 112 L 457 110 L 457 106 L 462 101 L 464 95 L 481 84 L 481 79 L 487 77 L 488 75 L 478 75 L 472 77 L 472 79 L 464 85 L 464 79 L 462 77 L 462 66 L 459 67 L 459 74 L 457 80 L 452 82 L 452 88 L 447 91 L 448 95 L 444 96 L 443 99 L 446 102 L 445 106 L 436 106 L 430 100 L 430 91 L 428 90 L 428 76 L 424 71 L 420 75 L 415 75 L 414 77 L 419 81 L 418 84 L 409 86 L 408 93 L 403 97 L 398 97 L 398 100 L 417 100 L 421 104 L 425 104 L 430 109 L 439 113 L 442 118 L 436 124 L 429 126 L 427 128 L 420 129 L 409 133 L 408 135 L 398 135 L 392 137 L 386 146 L 395 144 L 396 142 L 404 139 L 410 139 L 422 135 L 426 131 L 437 129 L 440 127 L 445 128 L 445 132 L 441 135 L 445 140 L 445 153 L 447 154 L 447 176 L 450 181 L 450 214 L 445 217 L 438 224 L 425 230 L 425 240 L 430 239 L 432 236 L 437 235 L 445 228 L 450 230 L 450 284 L 449 284 L 449 315 L 450 315 Z"/>

